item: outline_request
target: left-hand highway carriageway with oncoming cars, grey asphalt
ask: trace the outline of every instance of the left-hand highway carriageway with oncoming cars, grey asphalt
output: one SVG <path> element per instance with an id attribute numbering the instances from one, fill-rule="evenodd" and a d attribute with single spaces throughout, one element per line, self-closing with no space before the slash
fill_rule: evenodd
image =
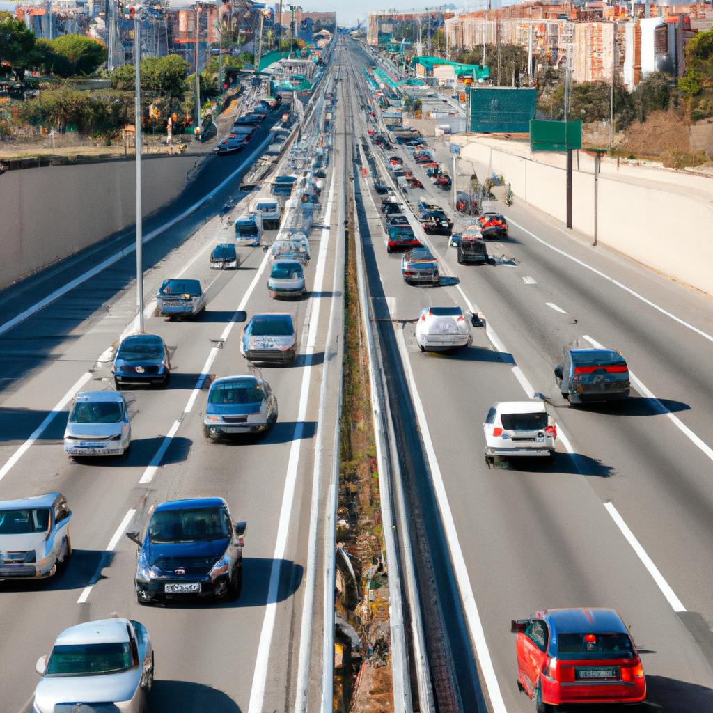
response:
<path id="1" fill-rule="evenodd" d="M 329 81 L 328 73 L 324 82 Z M 209 158 L 185 195 L 149 220 L 145 232 L 213 190 L 254 146 L 235 158 Z M 320 492 L 314 498 L 312 486 L 319 461 L 314 453 L 322 453 L 317 443 L 319 389 L 329 325 L 339 313 L 332 304 L 341 295 L 343 276 L 339 161 L 329 165 L 309 236 L 310 292 L 304 299 L 270 299 L 268 253 L 260 247 L 238 248 L 243 260 L 238 270 L 210 270 L 212 245 L 218 238 L 232 239 L 232 220 L 255 195 L 237 191 L 240 175 L 145 248 L 145 331 L 160 334 L 169 345 L 173 375 L 165 390 L 125 389 L 133 431 L 133 447 L 125 458 L 71 461 L 63 454 L 61 438 L 68 401 L 78 389 L 113 389 L 112 345 L 130 331 L 135 315 L 133 254 L 0 336 L 0 499 L 61 491 L 73 511 L 73 557 L 66 571 L 46 582 L 0 583 L 3 713 L 29 710 L 39 679 L 35 662 L 49 652 L 61 630 L 114 614 L 140 620 L 152 637 L 152 711 L 294 709 L 298 667 L 309 672 L 311 659 L 322 659 L 322 610 L 312 607 L 314 619 L 309 617 L 303 627 L 302 609 L 308 550 L 318 544 L 314 533 L 322 539 L 315 508 L 323 507 L 324 496 Z M 228 196 L 239 202 L 230 215 L 221 215 Z M 3 321 L 71 284 L 107 251 L 117 250 L 129 233 L 9 292 Z M 264 243 L 274 238 L 275 232 L 266 233 Z M 152 298 L 161 280 L 179 276 L 200 279 L 207 309 L 183 322 L 156 317 Z M 301 345 L 293 366 L 262 368 L 279 401 L 277 424 L 263 438 L 207 441 L 202 411 L 210 377 L 247 372 L 239 352 L 242 322 L 271 311 L 292 313 Z M 329 389 L 337 394 L 338 385 L 339 371 L 332 369 Z M 321 414 L 325 438 L 336 423 L 336 396 L 330 401 Z M 234 520 L 247 520 L 242 595 L 235 602 L 138 605 L 135 545 L 123 534 L 145 532 L 158 503 L 193 496 L 222 496 Z M 322 577 L 316 573 L 314 568 L 310 575 L 315 578 L 312 592 L 321 602 Z M 312 650 L 302 653 L 301 633 L 311 629 L 316 632 Z M 310 699 L 319 700 L 319 667 L 307 679 Z"/>

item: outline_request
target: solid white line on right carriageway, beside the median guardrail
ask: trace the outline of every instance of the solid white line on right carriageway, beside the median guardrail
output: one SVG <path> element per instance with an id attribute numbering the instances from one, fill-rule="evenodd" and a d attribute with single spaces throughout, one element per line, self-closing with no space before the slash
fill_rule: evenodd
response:
<path id="1" fill-rule="evenodd" d="M 401 361 L 404 362 L 406 376 L 409 378 L 411 398 L 414 400 L 416 416 L 419 419 L 419 426 L 421 428 L 421 438 L 424 440 L 426 456 L 429 459 L 431 476 L 433 477 L 436 498 L 438 499 L 438 509 L 441 511 L 441 517 L 443 518 L 443 528 L 446 530 L 448 547 L 451 550 L 451 557 L 453 558 L 453 570 L 456 573 L 458 589 L 461 591 L 463 610 L 466 612 L 466 620 L 468 621 L 468 629 L 471 633 L 471 640 L 473 640 L 473 645 L 476 647 L 478 663 L 480 664 L 481 671 L 483 672 L 483 679 L 485 679 L 486 682 L 488 696 L 491 699 L 491 705 L 493 707 L 493 713 L 506 713 L 503 694 L 500 690 L 500 684 L 498 683 L 495 667 L 493 667 L 493 660 L 491 659 L 490 650 L 488 649 L 488 642 L 486 642 L 485 632 L 483 631 L 483 623 L 481 622 L 481 617 L 478 613 L 476 597 L 473 595 L 471 579 L 468 576 L 466 560 L 463 557 L 461 543 L 458 540 L 458 530 L 456 529 L 455 520 L 453 520 L 453 513 L 451 513 L 451 505 L 448 503 L 446 486 L 443 483 L 441 468 L 438 465 L 438 458 L 436 458 L 433 441 L 431 441 L 431 432 L 429 431 L 428 421 L 426 421 L 426 412 L 424 411 L 424 405 L 421 403 L 419 391 L 416 389 L 416 379 L 414 379 L 414 371 L 411 369 L 411 361 L 409 360 L 409 354 L 406 350 L 404 332 L 400 329 L 396 330 L 396 342 L 399 344 Z"/>

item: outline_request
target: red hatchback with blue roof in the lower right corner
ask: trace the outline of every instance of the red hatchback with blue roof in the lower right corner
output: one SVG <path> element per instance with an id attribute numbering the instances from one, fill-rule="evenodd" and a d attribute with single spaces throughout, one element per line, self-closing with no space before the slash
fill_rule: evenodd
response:
<path id="1" fill-rule="evenodd" d="M 518 687 L 538 713 L 567 703 L 640 703 L 646 679 L 629 630 L 612 609 L 548 609 L 512 622 Z"/>

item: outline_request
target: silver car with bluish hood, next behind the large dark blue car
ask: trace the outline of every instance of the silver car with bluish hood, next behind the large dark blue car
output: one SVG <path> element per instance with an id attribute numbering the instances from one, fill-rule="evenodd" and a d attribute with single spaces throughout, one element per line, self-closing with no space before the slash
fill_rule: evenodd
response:
<path id="1" fill-rule="evenodd" d="M 220 436 L 259 434 L 277 421 L 277 398 L 270 384 L 257 376 L 224 376 L 210 385 L 203 430 Z"/>

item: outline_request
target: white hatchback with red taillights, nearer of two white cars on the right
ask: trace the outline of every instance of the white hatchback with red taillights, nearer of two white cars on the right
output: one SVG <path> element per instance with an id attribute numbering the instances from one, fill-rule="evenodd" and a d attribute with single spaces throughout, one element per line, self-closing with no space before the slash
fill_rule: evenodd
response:
<path id="1" fill-rule="evenodd" d="M 541 399 L 498 401 L 483 424 L 488 466 L 493 458 L 551 456 L 555 452 L 557 426 Z"/>

